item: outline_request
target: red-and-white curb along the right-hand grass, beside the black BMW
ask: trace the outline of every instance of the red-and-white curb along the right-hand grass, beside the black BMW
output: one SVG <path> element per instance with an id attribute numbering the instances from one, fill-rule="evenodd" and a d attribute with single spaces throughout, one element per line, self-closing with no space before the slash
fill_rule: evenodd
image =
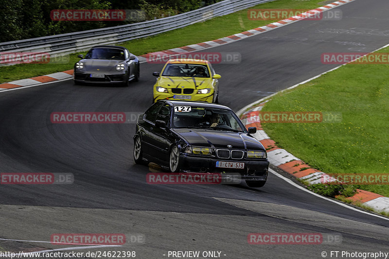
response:
<path id="1" fill-rule="evenodd" d="M 295 176 L 296 178 L 307 181 L 309 184 L 322 183 L 322 179 L 324 177 L 326 181 L 328 181 L 327 179 L 331 179 L 330 175 L 310 167 L 301 159 L 297 158 L 286 150 L 279 148 L 275 144 L 275 141 L 267 136 L 262 128 L 261 122 L 258 120 L 258 116 L 255 116 L 258 111 L 262 110 L 266 102 L 268 102 L 268 100 L 260 104 L 255 104 L 255 106 L 251 107 L 248 111 L 241 115 L 241 120 L 246 125 L 246 127 L 257 128 L 257 133 L 253 135 L 262 143 L 262 145 L 264 145 L 270 164 L 276 166 L 286 173 Z M 241 113 L 238 112 L 239 115 Z M 371 207 L 375 211 L 389 213 L 389 197 L 385 197 L 370 191 L 357 189 L 356 194 L 353 197 L 349 197 L 347 199 L 351 200 L 353 203 L 360 203 L 362 205 Z"/>

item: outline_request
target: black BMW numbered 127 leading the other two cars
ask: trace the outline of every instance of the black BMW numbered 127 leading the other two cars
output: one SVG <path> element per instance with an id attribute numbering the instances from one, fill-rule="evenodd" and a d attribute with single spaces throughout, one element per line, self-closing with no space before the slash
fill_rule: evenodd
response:
<path id="1" fill-rule="evenodd" d="M 134 136 L 134 160 L 171 172 L 221 173 L 263 187 L 269 161 L 264 146 L 227 106 L 163 100 L 141 114 Z"/>

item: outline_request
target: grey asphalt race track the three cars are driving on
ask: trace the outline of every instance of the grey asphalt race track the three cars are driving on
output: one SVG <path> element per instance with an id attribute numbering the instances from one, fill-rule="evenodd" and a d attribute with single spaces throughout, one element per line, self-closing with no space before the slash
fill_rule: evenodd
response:
<path id="1" fill-rule="evenodd" d="M 207 50 L 242 56 L 239 64 L 214 65 L 222 75 L 220 102 L 237 111 L 338 66 L 323 65 L 323 52 L 371 52 L 388 44 L 388 0 L 355 0 L 338 8 L 338 21 L 299 21 Z M 219 251 L 225 259 L 389 252 L 389 220 L 310 195 L 274 174 L 261 189 L 149 185 L 146 174 L 161 171 L 135 165 L 135 124 L 50 121 L 52 112 L 141 113 L 152 102 L 152 72 L 161 68 L 141 64 L 140 82 L 129 87 L 75 86 L 68 80 L 0 93 L 0 172 L 74 174 L 71 185 L 0 186 L 0 251 L 79 246 L 50 243 L 53 233 L 137 233 L 144 243 L 77 251 L 136 251 L 139 259 L 169 258 L 168 251 Z M 248 244 L 249 233 L 336 234 L 342 241 Z"/>

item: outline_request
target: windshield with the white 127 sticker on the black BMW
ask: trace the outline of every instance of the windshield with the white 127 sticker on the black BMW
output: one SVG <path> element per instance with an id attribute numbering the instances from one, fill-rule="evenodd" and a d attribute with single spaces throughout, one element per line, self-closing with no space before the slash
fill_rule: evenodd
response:
<path id="1" fill-rule="evenodd" d="M 247 132 L 239 118 L 228 109 L 199 106 L 175 106 L 173 128 L 207 128 L 212 130 Z"/>

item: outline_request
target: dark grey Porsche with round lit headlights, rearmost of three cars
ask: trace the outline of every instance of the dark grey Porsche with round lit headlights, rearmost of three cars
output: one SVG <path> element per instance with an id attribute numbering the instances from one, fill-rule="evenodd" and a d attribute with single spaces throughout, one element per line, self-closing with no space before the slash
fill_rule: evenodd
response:
<path id="1" fill-rule="evenodd" d="M 126 48 L 100 45 L 91 48 L 74 64 L 74 83 L 122 84 L 138 81 L 140 76 L 139 59 Z"/>

